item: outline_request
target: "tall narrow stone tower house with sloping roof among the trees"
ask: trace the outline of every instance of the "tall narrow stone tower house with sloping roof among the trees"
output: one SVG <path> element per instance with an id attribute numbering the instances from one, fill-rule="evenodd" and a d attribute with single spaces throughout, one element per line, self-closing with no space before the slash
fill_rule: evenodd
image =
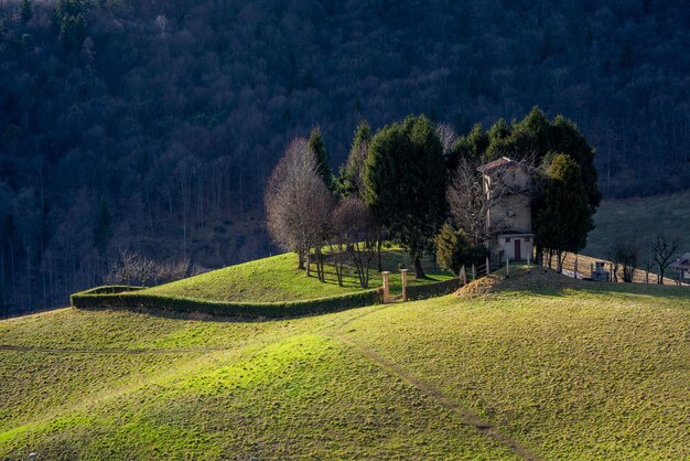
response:
<path id="1" fill-rule="evenodd" d="M 532 258 L 531 167 L 503 157 L 478 168 L 487 201 L 486 228 L 492 267 Z"/>

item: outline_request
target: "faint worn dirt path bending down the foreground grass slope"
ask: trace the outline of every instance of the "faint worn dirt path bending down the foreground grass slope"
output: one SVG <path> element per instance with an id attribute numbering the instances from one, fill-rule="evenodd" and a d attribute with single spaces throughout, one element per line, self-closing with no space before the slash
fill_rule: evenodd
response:
<path id="1" fill-rule="evenodd" d="M 379 312 L 382 309 L 389 309 L 390 307 L 392 307 L 392 305 L 391 304 L 387 304 L 386 307 L 384 307 L 381 309 L 377 309 L 375 311 L 366 312 L 366 313 L 364 313 L 362 315 L 357 315 L 355 318 L 352 318 L 352 319 L 347 320 L 346 322 L 342 323 L 341 325 L 338 325 L 336 329 L 327 330 L 325 332 L 325 334 L 327 334 L 331 337 L 334 337 L 334 339 L 341 341 L 342 343 L 347 344 L 353 350 L 355 350 L 360 355 L 363 355 L 365 358 L 367 358 L 369 362 L 371 362 L 375 365 L 378 365 L 379 367 L 385 369 L 387 373 L 389 373 L 389 374 L 391 374 L 393 376 L 397 376 L 397 377 L 401 378 L 402 380 L 405 380 L 406 383 L 417 387 L 422 393 L 424 393 L 425 395 L 428 395 L 431 398 L 433 398 L 442 407 L 444 407 L 444 408 L 455 412 L 456 415 L 459 415 L 460 418 L 463 420 L 463 422 L 474 427 L 479 433 L 483 433 L 485 436 L 492 437 L 493 439 L 495 439 L 495 440 L 506 444 L 518 457 L 520 457 L 522 459 L 526 459 L 526 460 L 533 460 L 533 461 L 539 460 L 539 458 L 535 453 L 532 453 L 531 450 L 529 450 L 528 448 L 521 446 L 517 440 L 515 440 L 510 436 L 500 432 L 494 426 L 483 421 L 482 418 L 479 418 L 478 415 L 476 415 L 474 411 L 470 410 L 468 408 L 460 405 L 457 401 L 453 400 L 451 397 L 445 395 L 443 393 L 443 390 L 439 389 L 433 384 L 431 384 L 431 383 L 429 383 L 427 380 L 420 379 L 420 378 L 409 374 L 407 371 L 405 371 L 399 365 L 397 365 L 397 364 L 395 364 L 395 363 L 392 363 L 392 362 L 381 357 L 380 355 L 378 355 L 367 344 L 358 342 L 358 341 L 347 336 L 343 332 L 344 328 L 347 326 L 349 323 L 352 323 L 352 322 L 354 322 L 356 320 L 359 320 L 363 317 L 369 315 L 369 314 L 371 314 L 374 312 Z"/>

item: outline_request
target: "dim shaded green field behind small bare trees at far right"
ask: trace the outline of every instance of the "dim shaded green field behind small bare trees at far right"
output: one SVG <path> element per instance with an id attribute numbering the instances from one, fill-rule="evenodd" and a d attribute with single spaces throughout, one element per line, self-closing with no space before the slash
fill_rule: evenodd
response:
<path id="1" fill-rule="evenodd" d="M 690 191 L 648 197 L 605 200 L 594 216 L 583 255 L 605 258 L 618 236 L 653 237 L 659 232 L 681 242 L 680 254 L 690 253 Z"/>

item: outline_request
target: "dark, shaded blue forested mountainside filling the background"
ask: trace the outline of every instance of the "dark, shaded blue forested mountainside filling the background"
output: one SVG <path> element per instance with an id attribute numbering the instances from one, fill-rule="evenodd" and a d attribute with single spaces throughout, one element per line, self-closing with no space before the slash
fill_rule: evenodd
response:
<path id="1" fill-rule="evenodd" d="M 0 0 L 0 314 L 125 248 L 269 253 L 267 176 L 313 125 L 336 167 L 362 118 L 539 105 L 596 147 L 605 196 L 687 187 L 688 50 L 677 0 Z"/>

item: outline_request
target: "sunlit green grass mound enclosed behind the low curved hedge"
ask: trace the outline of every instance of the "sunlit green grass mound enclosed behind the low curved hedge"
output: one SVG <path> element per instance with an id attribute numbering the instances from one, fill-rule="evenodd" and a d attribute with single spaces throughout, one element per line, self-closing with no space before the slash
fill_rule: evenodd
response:
<path id="1" fill-rule="evenodd" d="M 403 250 L 390 248 L 382 253 L 384 270 L 392 272 L 390 283 L 396 292 L 400 291 L 398 267 L 405 264 L 409 261 Z M 429 278 L 417 280 L 411 275 L 409 283 L 428 283 L 452 278 L 451 274 L 434 268 L 429 261 L 423 261 L 423 267 Z M 304 271 L 297 269 L 297 255 L 289 253 L 161 285 L 140 293 L 212 301 L 276 302 L 325 298 L 362 290 L 353 268 L 346 268 L 343 287 L 337 285 L 333 267 L 326 265 L 325 272 L 325 283 L 319 281 L 315 271 L 312 277 L 306 277 Z M 370 271 L 369 286 L 381 286 L 381 276 L 376 267 Z"/>

